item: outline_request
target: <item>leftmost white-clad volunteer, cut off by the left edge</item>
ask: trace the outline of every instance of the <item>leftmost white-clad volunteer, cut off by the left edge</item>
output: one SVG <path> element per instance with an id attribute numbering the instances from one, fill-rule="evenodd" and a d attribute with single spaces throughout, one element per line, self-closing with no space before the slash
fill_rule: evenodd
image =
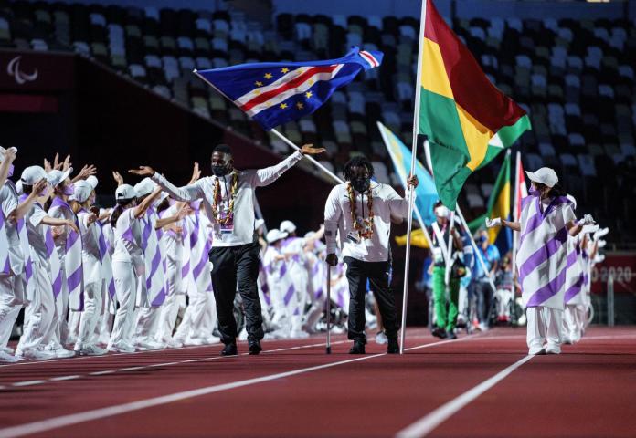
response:
<path id="1" fill-rule="evenodd" d="M 26 303 L 29 252 L 23 250 L 17 229 L 18 222 L 24 226 L 22 218 L 26 212 L 24 207 L 19 209 L 16 186 L 9 180 L 16 152 L 16 148 L 0 147 L 0 362 L 20 360 L 11 354 L 13 350 L 7 343 L 20 308 Z"/>

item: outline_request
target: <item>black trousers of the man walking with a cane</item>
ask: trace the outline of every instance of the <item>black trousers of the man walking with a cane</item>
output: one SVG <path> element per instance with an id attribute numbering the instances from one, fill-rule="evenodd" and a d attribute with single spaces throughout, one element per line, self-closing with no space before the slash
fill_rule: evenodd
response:
<path id="1" fill-rule="evenodd" d="M 365 294 L 366 280 L 376 296 L 387 338 L 398 338 L 398 314 L 396 300 L 388 283 L 390 262 L 363 262 L 345 257 L 346 279 L 349 280 L 349 339 L 366 342 Z"/>

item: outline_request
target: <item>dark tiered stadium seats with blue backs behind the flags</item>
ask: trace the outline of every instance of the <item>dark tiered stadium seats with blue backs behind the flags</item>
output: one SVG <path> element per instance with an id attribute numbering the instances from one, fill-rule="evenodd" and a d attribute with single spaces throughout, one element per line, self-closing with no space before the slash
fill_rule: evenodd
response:
<path id="1" fill-rule="evenodd" d="M 334 93 L 313 116 L 281 131 L 298 143 L 323 144 L 324 158 L 336 171 L 352 154 L 363 152 L 385 163 L 376 166 L 383 180 L 397 181 L 376 120 L 410 144 L 419 33 L 414 18 L 280 14 L 272 19 L 274 29 L 266 30 L 237 11 L 4 5 L 0 47 L 73 50 L 94 57 L 164 98 L 229 123 L 281 153 L 289 150 L 287 145 L 263 133 L 192 70 L 340 57 L 352 45 L 382 50 L 382 68 L 370 70 Z M 619 174 L 621 163 L 636 155 L 633 23 L 476 18 L 457 19 L 452 26 L 495 85 L 529 112 L 533 130 L 521 141 L 525 167 L 554 166 L 579 200 L 605 199 L 597 179 Z M 484 208 L 497 167 L 475 173 L 463 193 L 461 202 L 474 214 Z"/>

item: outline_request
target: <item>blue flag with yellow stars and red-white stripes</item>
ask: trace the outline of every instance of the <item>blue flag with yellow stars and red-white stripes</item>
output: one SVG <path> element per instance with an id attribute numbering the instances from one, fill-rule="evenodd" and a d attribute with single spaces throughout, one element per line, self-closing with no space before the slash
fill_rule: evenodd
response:
<path id="1" fill-rule="evenodd" d="M 312 114 L 335 89 L 353 81 L 362 70 L 382 63 L 382 52 L 353 47 L 345 56 L 313 62 L 270 62 L 195 70 L 239 109 L 271 130 Z"/>

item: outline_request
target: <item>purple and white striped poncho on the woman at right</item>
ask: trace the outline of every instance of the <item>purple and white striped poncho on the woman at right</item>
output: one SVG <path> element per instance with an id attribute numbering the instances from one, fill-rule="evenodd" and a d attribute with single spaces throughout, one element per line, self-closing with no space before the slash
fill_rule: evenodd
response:
<path id="1" fill-rule="evenodd" d="M 567 224 L 576 219 L 565 196 L 542 208 L 538 196 L 522 200 L 521 238 L 516 256 L 525 307 L 564 308 Z"/>

